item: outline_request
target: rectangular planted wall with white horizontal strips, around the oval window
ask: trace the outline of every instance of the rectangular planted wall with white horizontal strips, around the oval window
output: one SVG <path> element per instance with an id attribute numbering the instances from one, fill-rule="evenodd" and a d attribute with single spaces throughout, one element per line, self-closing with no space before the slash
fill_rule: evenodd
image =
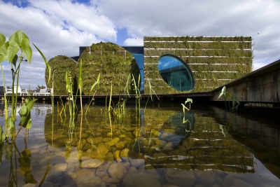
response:
<path id="1" fill-rule="evenodd" d="M 159 94 L 181 93 L 170 88 L 158 71 L 162 55 L 181 57 L 192 69 L 195 88 L 191 92 L 213 90 L 252 70 L 251 37 L 144 37 L 144 92 L 150 81 Z"/>

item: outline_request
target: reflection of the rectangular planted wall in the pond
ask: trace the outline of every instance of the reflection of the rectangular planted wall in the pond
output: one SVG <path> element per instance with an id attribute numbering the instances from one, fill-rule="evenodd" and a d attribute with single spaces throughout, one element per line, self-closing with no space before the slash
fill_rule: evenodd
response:
<path id="1" fill-rule="evenodd" d="M 153 143 L 144 144 L 146 169 L 216 169 L 224 172 L 254 172 L 251 151 L 233 139 L 230 134 L 226 134 L 223 125 L 216 123 L 215 118 L 195 113 L 188 116 L 192 122 L 195 119 L 195 125 L 191 124 L 190 130 L 182 127 L 179 128 L 181 131 L 178 131 L 178 128 L 172 131 L 170 126 L 183 125 L 177 121 L 180 116 L 180 113 L 170 116 L 158 130 L 159 137 L 154 138 Z M 146 115 L 145 117 L 149 118 Z M 169 125 L 165 125 L 166 123 Z M 172 135 L 170 135 L 171 131 Z M 184 133 L 186 136 L 182 135 Z M 146 139 L 151 137 L 146 136 Z"/>

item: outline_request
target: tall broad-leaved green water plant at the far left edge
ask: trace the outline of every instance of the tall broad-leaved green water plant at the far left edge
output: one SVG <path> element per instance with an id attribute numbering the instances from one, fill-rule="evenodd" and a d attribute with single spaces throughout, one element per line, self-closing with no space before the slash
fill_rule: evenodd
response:
<path id="1" fill-rule="evenodd" d="M 34 43 L 33 43 L 34 45 Z M 34 45 L 35 46 L 35 45 Z M 45 60 L 45 56 L 41 53 L 36 46 L 35 48 Z M 20 52 L 20 56 L 18 56 L 18 52 Z M 6 36 L 0 34 L 0 64 L 1 64 L 1 71 L 3 77 L 3 87 L 5 88 L 5 77 L 3 74 L 3 67 L 1 62 L 6 62 L 10 64 L 11 74 L 12 74 L 12 88 L 13 93 L 11 97 L 11 112 L 10 116 L 8 116 L 8 99 L 6 97 L 6 92 L 4 91 L 4 100 L 5 100 L 5 131 L 1 132 L 0 144 L 3 143 L 3 136 L 5 136 L 6 141 L 8 141 L 8 137 L 12 137 L 13 141 L 15 141 L 15 116 L 16 116 L 16 109 L 18 103 L 18 88 L 19 88 L 19 78 L 20 78 L 20 67 L 22 63 L 29 62 L 31 64 L 31 57 L 32 57 L 32 50 L 29 45 L 29 38 L 28 36 L 18 30 L 13 33 L 8 41 L 6 41 Z M 45 64 L 48 67 L 48 62 L 45 60 Z M 20 109 L 20 129 L 18 133 L 22 129 L 22 127 L 31 127 L 31 116 L 30 111 L 32 106 L 36 102 L 36 99 L 31 100 L 29 97 L 25 99 L 25 104 L 21 106 Z M 4 134 L 4 135 L 3 135 Z"/>

